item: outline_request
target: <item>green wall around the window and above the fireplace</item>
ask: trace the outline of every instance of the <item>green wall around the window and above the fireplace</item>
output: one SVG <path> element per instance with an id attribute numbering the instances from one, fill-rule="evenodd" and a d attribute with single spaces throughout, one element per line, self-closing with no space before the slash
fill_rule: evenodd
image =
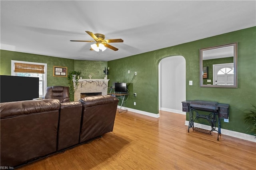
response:
<path id="1" fill-rule="evenodd" d="M 107 61 L 74 60 L 46 55 L 1 50 L 0 75 L 11 75 L 11 60 L 47 63 L 47 86 L 68 86 L 67 77 L 53 76 L 53 66 L 67 67 L 68 74 L 70 71 L 74 70 L 81 71 L 81 77 L 83 79 L 89 79 L 88 75 L 92 75 L 92 79 L 104 79 L 103 70 L 105 67 L 107 67 Z"/>

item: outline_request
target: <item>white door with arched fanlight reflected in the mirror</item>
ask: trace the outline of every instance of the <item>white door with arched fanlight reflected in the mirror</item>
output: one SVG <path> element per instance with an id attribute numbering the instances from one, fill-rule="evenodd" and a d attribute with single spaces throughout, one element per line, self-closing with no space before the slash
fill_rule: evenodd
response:
<path id="1" fill-rule="evenodd" d="M 234 85 L 234 63 L 213 65 L 214 85 Z"/>

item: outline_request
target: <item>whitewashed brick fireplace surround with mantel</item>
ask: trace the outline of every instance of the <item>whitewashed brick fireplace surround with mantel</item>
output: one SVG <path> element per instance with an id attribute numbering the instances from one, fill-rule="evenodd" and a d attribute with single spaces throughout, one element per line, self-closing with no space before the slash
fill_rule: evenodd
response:
<path id="1" fill-rule="evenodd" d="M 80 100 L 81 93 L 102 93 L 108 95 L 109 79 L 80 79 L 74 93 L 74 101 Z"/>

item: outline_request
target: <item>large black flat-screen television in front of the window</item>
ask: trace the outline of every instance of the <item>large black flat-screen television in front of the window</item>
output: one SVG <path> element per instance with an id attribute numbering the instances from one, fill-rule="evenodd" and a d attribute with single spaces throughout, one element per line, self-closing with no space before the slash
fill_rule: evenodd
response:
<path id="1" fill-rule="evenodd" d="M 0 75 L 0 102 L 32 100 L 39 97 L 39 78 Z"/>

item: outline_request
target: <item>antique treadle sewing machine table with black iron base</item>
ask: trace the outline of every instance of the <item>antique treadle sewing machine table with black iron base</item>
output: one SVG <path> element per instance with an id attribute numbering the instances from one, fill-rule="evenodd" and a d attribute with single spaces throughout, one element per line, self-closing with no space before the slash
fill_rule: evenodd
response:
<path id="1" fill-rule="evenodd" d="M 218 116 L 218 138 L 221 134 L 220 128 L 220 118 L 228 119 L 228 104 L 220 104 L 218 102 L 210 102 L 210 101 L 182 101 L 182 111 L 189 113 L 189 123 L 188 123 L 188 132 L 190 128 L 193 130 L 211 134 L 213 130 L 216 128 L 216 116 Z M 210 112 L 209 115 L 199 114 L 197 111 L 206 111 Z M 196 117 L 193 116 L 193 112 L 196 112 Z M 194 121 L 198 118 L 207 119 L 210 123 L 212 130 L 205 130 L 201 128 L 194 127 Z M 217 131 L 217 130 L 215 130 Z"/>

